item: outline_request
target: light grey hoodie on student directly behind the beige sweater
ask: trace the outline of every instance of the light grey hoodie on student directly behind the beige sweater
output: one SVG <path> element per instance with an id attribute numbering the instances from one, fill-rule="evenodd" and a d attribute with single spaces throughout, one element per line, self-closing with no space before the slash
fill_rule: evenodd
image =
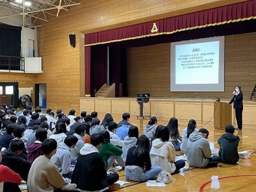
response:
<path id="1" fill-rule="evenodd" d="M 58 144 L 57 152 L 52 156 L 53 162 L 61 174 L 68 174 L 70 172 L 70 148 L 63 142 Z"/>

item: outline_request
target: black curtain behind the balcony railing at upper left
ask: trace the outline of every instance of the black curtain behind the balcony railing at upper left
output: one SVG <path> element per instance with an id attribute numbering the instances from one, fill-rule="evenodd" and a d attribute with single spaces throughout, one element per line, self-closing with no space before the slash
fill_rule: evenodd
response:
<path id="1" fill-rule="evenodd" d="M 0 25 L 0 55 L 20 57 L 20 49 L 21 27 Z M 11 70 L 20 70 L 19 58 L 0 57 L 0 64 L 0 69 L 9 69 L 7 64 L 11 64 Z"/>

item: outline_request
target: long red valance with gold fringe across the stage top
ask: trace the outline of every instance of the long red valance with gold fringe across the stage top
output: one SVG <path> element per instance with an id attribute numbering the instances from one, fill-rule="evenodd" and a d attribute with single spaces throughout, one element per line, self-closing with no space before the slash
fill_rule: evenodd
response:
<path id="1" fill-rule="evenodd" d="M 172 18 L 87 34 L 85 35 L 85 46 L 172 34 L 189 29 L 222 25 L 253 18 L 256 18 L 256 0 L 249 0 Z M 152 33 L 151 29 L 154 23 L 156 24 L 158 31 Z"/>

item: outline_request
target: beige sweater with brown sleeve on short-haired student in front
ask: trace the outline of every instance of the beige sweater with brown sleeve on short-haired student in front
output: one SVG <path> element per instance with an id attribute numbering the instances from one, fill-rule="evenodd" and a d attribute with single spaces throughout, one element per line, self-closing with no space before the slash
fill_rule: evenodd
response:
<path id="1" fill-rule="evenodd" d="M 61 188 L 65 184 L 53 162 L 44 155 L 36 158 L 28 173 L 28 192 L 53 192 L 54 188 Z"/>

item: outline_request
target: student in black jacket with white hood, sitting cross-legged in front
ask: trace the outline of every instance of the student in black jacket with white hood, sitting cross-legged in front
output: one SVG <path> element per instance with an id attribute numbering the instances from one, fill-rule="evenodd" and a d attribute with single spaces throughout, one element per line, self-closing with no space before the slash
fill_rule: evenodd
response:
<path id="1" fill-rule="evenodd" d="M 109 191 L 116 191 L 120 187 L 120 184 L 114 184 L 119 180 L 119 175 L 117 173 L 107 174 L 98 150 L 101 143 L 103 143 L 101 134 L 93 134 L 91 144 L 84 144 L 77 157 L 71 183 L 76 183 L 77 188 L 81 190 L 103 191 L 109 188 Z"/>

